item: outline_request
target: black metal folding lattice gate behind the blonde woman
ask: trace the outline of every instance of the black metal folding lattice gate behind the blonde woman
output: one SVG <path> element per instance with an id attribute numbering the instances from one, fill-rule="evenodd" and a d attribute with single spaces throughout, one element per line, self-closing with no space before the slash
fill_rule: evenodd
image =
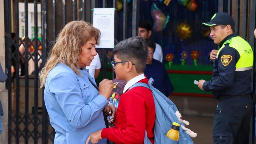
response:
<path id="1" fill-rule="evenodd" d="M 22 7 L 21 2 L 23 3 Z M 33 4 L 32 10 L 29 9 L 31 4 Z M 4 0 L 5 62 L 6 73 L 8 74 L 6 81 L 6 88 L 8 89 L 8 143 L 54 142 L 55 131 L 49 122 L 43 89 L 38 89 L 39 71 L 47 59 L 57 33 L 67 22 L 78 19 L 90 22 L 92 21 L 90 16 L 93 14 L 91 9 L 116 7 L 116 5 L 117 0 L 111 2 L 106 0 Z M 126 27 L 126 0 L 123 1 L 123 5 L 123 26 Z M 133 36 L 137 33 L 137 7 L 138 1 L 134 0 Z M 24 11 L 21 12 L 19 9 L 24 9 Z M 57 13 L 58 10 L 62 13 Z M 37 19 L 41 22 L 38 22 Z M 21 23 L 23 26 L 20 26 Z M 31 25 L 33 25 L 34 30 L 29 31 Z M 12 31 L 15 31 L 15 38 L 13 37 L 14 34 L 11 33 Z M 126 38 L 126 35 L 127 32 L 124 29 L 123 39 Z M 21 48 L 22 46 L 23 48 Z M 102 75 L 105 78 L 106 63 L 110 61 L 106 55 L 106 49 L 103 49 L 102 56 Z M 31 71 L 33 72 L 31 73 Z"/>

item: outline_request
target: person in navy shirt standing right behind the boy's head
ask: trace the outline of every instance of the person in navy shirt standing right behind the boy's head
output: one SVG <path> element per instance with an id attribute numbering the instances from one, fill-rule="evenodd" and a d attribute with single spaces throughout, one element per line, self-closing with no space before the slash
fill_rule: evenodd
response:
<path id="1" fill-rule="evenodd" d="M 144 74 L 147 78 L 153 78 L 155 80 L 153 87 L 168 97 L 174 91 L 174 88 L 166 72 L 165 66 L 153 58 L 155 42 L 151 39 L 145 39 L 145 43 L 149 47 L 149 56 L 147 58 Z"/>

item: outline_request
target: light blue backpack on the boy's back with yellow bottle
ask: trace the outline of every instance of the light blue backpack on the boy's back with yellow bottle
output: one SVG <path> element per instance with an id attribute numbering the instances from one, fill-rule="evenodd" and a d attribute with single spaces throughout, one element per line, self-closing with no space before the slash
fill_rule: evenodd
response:
<path id="1" fill-rule="evenodd" d="M 135 83 L 130 89 L 137 86 L 143 86 L 152 91 L 155 102 L 154 144 L 193 144 L 190 136 L 187 135 L 186 131 L 181 127 L 179 128 L 179 141 L 174 141 L 166 137 L 166 133 L 171 129 L 172 123 L 179 123 L 178 118 L 175 115 L 175 111 L 178 109 L 169 98 L 152 86 L 153 82 L 154 79 L 150 78 L 148 85 L 146 83 Z M 180 124 L 185 126 L 183 123 Z M 145 131 L 144 143 L 151 144 L 149 138 L 147 138 L 147 131 Z"/>

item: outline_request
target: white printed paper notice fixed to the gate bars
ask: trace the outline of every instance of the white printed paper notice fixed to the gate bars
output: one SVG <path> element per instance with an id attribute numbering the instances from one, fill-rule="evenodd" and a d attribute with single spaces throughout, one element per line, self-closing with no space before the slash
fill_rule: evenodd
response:
<path id="1" fill-rule="evenodd" d="M 97 48 L 114 48 L 114 8 L 94 8 L 93 26 L 101 31 L 100 45 Z"/>

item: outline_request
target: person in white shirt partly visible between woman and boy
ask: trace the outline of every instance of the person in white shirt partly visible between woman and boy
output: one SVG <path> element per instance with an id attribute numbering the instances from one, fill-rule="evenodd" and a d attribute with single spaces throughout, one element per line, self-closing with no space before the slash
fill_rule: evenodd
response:
<path id="1" fill-rule="evenodd" d="M 97 79 L 99 73 L 101 72 L 101 60 L 99 58 L 99 54 L 94 56 L 93 61 L 91 62 L 90 66 L 86 66 L 86 69 L 89 69 L 89 73 L 91 77 Z"/>

